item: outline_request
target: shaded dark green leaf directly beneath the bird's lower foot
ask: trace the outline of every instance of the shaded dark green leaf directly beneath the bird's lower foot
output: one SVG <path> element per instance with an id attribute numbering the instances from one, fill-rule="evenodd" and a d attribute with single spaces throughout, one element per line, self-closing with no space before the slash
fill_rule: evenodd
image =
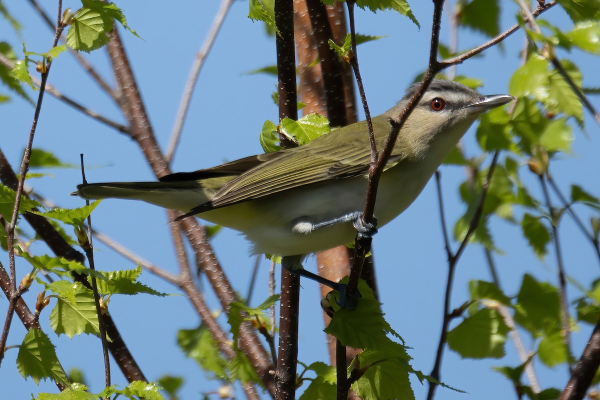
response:
<path id="1" fill-rule="evenodd" d="M 391 343 L 388 334 L 400 338 L 383 318 L 380 303 L 364 281 L 359 281 L 362 295 L 355 309 L 336 311 L 325 333 L 340 339 L 344 346 L 377 350 Z M 401 338 L 400 338 L 401 339 Z"/>

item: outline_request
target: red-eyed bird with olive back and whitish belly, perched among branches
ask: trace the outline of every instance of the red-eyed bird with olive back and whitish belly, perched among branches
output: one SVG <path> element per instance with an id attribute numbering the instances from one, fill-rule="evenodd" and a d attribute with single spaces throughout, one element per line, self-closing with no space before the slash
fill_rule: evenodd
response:
<path id="1" fill-rule="evenodd" d="M 373 118 L 377 149 L 410 95 Z M 406 209 L 486 110 L 513 100 L 481 96 L 467 86 L 434 80 L 400 130 L 381 176 L 374 215 L 379 227 Z M 367 124 L 338 128 L 307 145 L 242 158 L 159 182 L 85 184 L 84 199 L 142 200 L 196 215 L 244 233 L 253 252 L 302 255 L 350 243 L 365 204 L 371 159 Z"/>

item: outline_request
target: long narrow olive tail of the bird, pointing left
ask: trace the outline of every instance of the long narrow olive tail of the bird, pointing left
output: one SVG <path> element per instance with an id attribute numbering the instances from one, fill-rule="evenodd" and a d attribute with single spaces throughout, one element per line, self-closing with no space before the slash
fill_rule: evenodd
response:
<path id="1" fill-rule="evenodd" d="M 210 201 L 214 191 L 199 181 L 180 182 L 105 182 L 77 186 L 72 196 L 83 199 L 142 200 L 160 207 L 188 212 Z"/>

